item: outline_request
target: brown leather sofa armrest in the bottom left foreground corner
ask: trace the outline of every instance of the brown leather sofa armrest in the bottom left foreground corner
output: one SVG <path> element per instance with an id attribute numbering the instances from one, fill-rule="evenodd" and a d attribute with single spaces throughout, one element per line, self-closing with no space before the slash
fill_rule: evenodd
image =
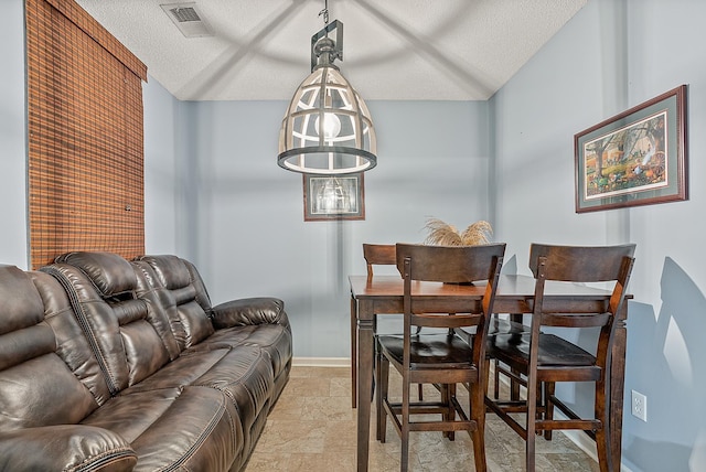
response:
<path id="1" fill-rule="evenodd" d="M 3 471 L 131 471 L 137 454 L 119 435 L 83 425 L 0 432 Z"/>

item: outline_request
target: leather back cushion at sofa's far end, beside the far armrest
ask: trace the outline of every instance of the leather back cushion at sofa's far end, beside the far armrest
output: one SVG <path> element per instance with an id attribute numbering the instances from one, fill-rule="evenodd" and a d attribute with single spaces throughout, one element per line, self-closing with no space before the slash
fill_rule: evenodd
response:
<path id="1" fill-rule="evenodd" d="M 208 296 L 192 265 L 172 255 L 141 256 L 133 264 L 142 268 L 142 273 L 148 276 L 147 283 L 158 290 L 165 302 L 163 308 L 174 323 L 182 351 L 214 333 L 208 318 Z"/>

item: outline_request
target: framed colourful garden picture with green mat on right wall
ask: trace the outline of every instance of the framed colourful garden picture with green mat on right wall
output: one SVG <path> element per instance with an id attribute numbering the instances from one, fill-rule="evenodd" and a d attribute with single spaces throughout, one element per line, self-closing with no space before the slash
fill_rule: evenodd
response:
<path id="1" fill-rule="evenodd" d="M 574 137 L 576 212 L 687 199 L 686 85 Z"/>

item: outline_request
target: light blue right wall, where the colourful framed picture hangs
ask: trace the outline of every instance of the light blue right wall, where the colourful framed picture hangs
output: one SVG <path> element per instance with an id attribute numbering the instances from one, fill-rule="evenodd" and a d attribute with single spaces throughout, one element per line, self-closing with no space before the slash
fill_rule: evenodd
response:
<path id="1" fill-rule="evenodd" d="M 490 103 L 498 237 L 518 271 L 532 242 L 638 244 L 623 420 L 633 471 L 706 470 L 704 19 L 702 0 L 591 0 Z M 576 214 L 574 135 L 681 84 L 689 200 Z M 648 422 L 630 415 L 631 389 L 648 396 Z M 589 405 L 589 393 L 573 394 Z"/>

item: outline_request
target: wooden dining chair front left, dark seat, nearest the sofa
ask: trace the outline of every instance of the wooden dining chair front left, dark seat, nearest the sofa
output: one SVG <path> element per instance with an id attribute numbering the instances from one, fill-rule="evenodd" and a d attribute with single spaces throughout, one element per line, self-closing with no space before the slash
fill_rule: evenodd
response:
<path id="1" fill-rule="evenodd" d="M 477 471 L 485 471 L 485 335 L 505 251 L 504 244 L 479 246 L 425 246 L 397 244 L 397 269 L 404 279 L 404 333 L 377 336 L 375 377 L 377 439 L 386 440 L 387 417 L 402 440 L 400 470 L 409 465 L 409 433 L 442 431 L 449 440 L 466 430 L 473 441 Z M 415 296 L 417 281 L 472 283 L 483 281 L 481 299 Z M 440 328 L 413 335 L 415 326 Z M 457 329 L 475 326 L 468 343 Z M 402 375 L 402 401 L 389 393 L 389 365 Z M 411 384 L 435 384 L 437 401 L 411 403 Z M 457 396 L 457 384 L 469 386 L 468 414 Z M 421 418 L 418 415 L 425 415 Z M 426 415 L 439 415 L 430 419 Z"/>

